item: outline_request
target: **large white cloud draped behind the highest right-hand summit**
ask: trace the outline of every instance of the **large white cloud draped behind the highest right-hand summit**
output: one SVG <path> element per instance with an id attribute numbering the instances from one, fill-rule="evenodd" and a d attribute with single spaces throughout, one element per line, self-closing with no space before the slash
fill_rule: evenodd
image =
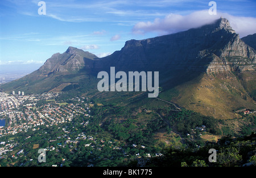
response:
<path id="1" fill-rule="evenodd" d="M 233 16 L 221 12 L 217 12 L 217 15 L 209 15 L 208 10 L 196 11 L 188 15 L 169 14 L 163 19 L 156 18 L 154 22 L 139 22 L 133 27 L 133 33 L 157 32 L 159 35 L 166 35 L 210 24 L 220 16 L 229 20 L 230 25 L 240 34 L 240 37 L 256 33 L 256 18 Z"/>

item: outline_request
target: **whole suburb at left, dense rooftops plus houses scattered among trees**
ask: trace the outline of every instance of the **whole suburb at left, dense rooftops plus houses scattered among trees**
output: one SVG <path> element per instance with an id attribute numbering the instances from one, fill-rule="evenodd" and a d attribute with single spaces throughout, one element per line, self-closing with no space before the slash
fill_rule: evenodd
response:
<path id="1" fill-rule="evenodd" d="M 45 151 L 56 152 L 56 154 L 65 150 L 60 161 L 52 166 L 67 166 L 64 164 L 68 161 L 67 155 L 72 155 L 74 152 L 88 156 L 88 162 L 84 165 L 88 167 L 94 166 L 97 158 L 108 162 L 129 156 L 141 158 L 144 155 L 145 158 L 150 158 L 163 155 L 160 152 L 145 152 L 146 146 L 135 143 L 121 145 L 119 141 L 106 135 L 98 135 L 97 132 L 80 132 L 81 128 L 86 130 L 90 127 L 90 121 L 94 119 L 90 109 L 94 104 L 85 97 L 58 102 L 56 101 L 58 95 L 56 93 L 41 95 L 24 95 L 22 92 L 18 95 L 14 92 L 13 94 L 0 93 L 0 119 L 5 120 L 5 126 L 0 126 L 0 162 L 10 158 L 12 162 L 18 163 L 18 160 L 26 157 L 28 160 L 18 166 L 38 165 L 38 160 L 35 159 L 38 156 L 37 152 L 31 156 L 28 156 L 30 155 L 28 152 L 42 149 L 42 146 Z M 72 122 L 74 118 L 81 116 L 81 120 Z M 48 131 L 51 128 L 56 128 L 54 133 Z M 88 130 L 90 129 L 92 130 L 92 128 Z M 26 133 L 31 134 L 18 139 L 20 134 L 26 135 Z M 44 144 L 39 144 L 40 142 Z M 31 145 L 30 151 L 27 144 Z M 104 152 L 103 155 L 115 156 L 108 158 L 101 152 Z M 98 154 L 100 155 L 97 156 Z"/>

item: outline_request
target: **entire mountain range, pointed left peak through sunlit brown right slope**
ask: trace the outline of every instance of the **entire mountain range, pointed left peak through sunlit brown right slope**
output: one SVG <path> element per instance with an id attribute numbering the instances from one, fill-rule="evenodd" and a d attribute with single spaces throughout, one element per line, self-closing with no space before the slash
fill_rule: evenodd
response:
<path id="1" fill-rule="evenodd" d="M 256 109 L 253 44 L 250 36 L 241 40 L 228 20 L 221 18 L 184 32 L 126 41 L 121 50 L 104 58 L 69 47 L 63 54 L 53 54 L 34 73 L 1 85 L 0 90 L 52 92 L 77 84 L 82 90 L 97 91 L 97 73 L 111 66 L 115 71 L 159 71 L 162 99 L 205 115 L 232 118 L 232 110 L 238 107 Z"/>

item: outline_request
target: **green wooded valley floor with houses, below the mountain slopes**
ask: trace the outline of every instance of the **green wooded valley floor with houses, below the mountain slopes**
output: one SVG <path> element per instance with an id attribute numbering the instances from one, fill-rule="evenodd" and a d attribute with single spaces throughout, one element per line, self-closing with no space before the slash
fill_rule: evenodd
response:
<path id="1" fill-rule="evenodd" d="M 219 144 L 223 136 L 248 135 L 256 124 L 253 115 L 216 121 L 147 97 L 140 101 L 131 98 L 128 105 L 115 103 L 115 98 L 106 102 L 65 93 L 26 95 L 16 100 L 19 105 L 1 112 L 7 120 L 1 128 L 1 166 L 129 166 L 140 159 L 158 166 L 161 158 L 168 157 L 168 149 L 189 149 L 195 154 L 209 144 Z M 153 107 L 148 100 L 157 105 Z M 230 128 L 236 122 L 241 130 L 234 132 Z M 38 163 L 38 149 L 46 150 L 45 163 Z"/>

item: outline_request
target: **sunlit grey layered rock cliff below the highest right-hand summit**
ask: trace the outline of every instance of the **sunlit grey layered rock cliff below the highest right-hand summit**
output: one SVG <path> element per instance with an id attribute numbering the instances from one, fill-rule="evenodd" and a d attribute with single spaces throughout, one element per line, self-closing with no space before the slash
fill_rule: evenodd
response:
<path id="1" fill-rule="evenodd" d="M 255 50 L 245 44 L 230 27 L 228 20 L 221 19 L 221 23 L 226 24 L 225 29 L 230 34 L 229 38 L 221 36 L 218 41 L 218 49 L 208 52 L 205 55 L 210 55 L 213 61 L 210 62 L 207 73 L 219 71 L 253 71 L 255 70 L 256 56 Z"/>

